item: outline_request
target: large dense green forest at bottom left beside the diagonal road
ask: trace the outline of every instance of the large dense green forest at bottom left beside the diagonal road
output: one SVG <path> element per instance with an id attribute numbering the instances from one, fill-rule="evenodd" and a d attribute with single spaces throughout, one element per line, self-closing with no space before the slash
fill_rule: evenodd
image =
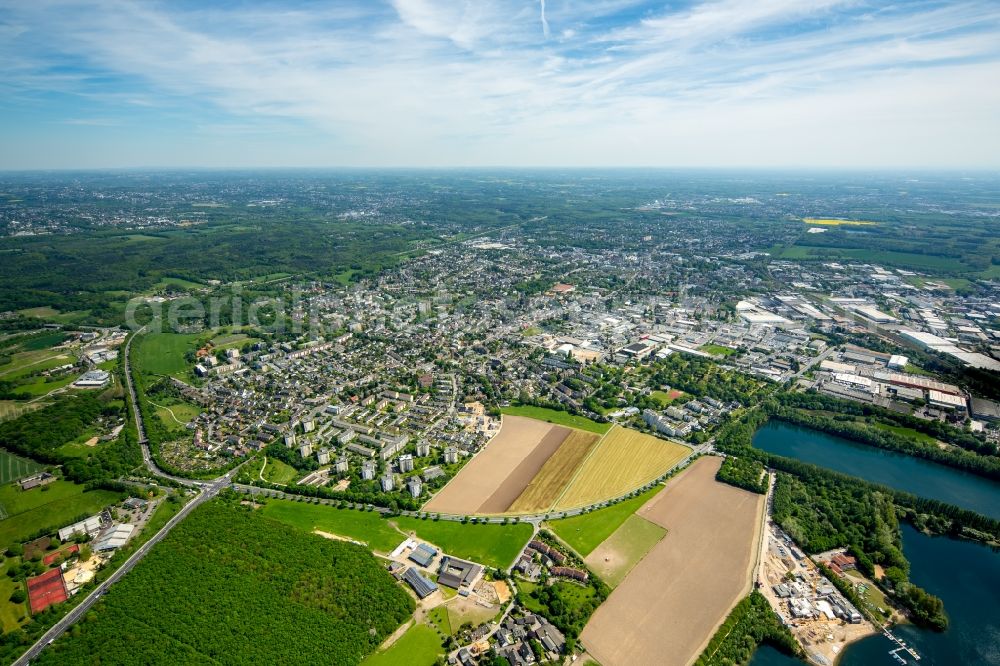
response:
<path id="1" fill-rule="evenodd" d="M 360 546 L 199 507 L 39 664 L 358 664 L 414 602 Z"/>

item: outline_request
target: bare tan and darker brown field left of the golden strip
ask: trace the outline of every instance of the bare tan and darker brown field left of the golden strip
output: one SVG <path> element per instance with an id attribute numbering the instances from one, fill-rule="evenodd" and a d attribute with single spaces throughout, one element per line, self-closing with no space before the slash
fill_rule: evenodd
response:
<path id="1" fill-rule="evenodd" d="M 523 416 L 504 416 L 500 432 L 424 505 L 452 514 L 503 513 L 572 432 Z"/>

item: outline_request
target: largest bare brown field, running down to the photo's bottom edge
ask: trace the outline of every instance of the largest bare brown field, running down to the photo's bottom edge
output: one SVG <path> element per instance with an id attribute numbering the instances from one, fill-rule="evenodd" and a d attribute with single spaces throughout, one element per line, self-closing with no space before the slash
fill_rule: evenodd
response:
<path id="1" fill-rule="evenodd" d="M 717 482 L 721 464 L 696 461 L 636 513 L 667 535 L 584 627 L 603 666 L 692 663 L 749 591 L 764 497 Z"/>

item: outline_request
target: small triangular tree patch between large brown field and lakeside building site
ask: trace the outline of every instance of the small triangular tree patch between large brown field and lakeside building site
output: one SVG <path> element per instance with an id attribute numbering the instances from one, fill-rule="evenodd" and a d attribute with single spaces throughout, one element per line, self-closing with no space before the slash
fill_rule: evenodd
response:
<path id="1" fill-rule="evenodd" d="M 802 648 L 795 637 L 771 610 L 764 595 L 754 590 L 729 613 L 695 666 L 747 664 L 762 643 L 773 645 L 786 654 L 802 656 Z"/>

